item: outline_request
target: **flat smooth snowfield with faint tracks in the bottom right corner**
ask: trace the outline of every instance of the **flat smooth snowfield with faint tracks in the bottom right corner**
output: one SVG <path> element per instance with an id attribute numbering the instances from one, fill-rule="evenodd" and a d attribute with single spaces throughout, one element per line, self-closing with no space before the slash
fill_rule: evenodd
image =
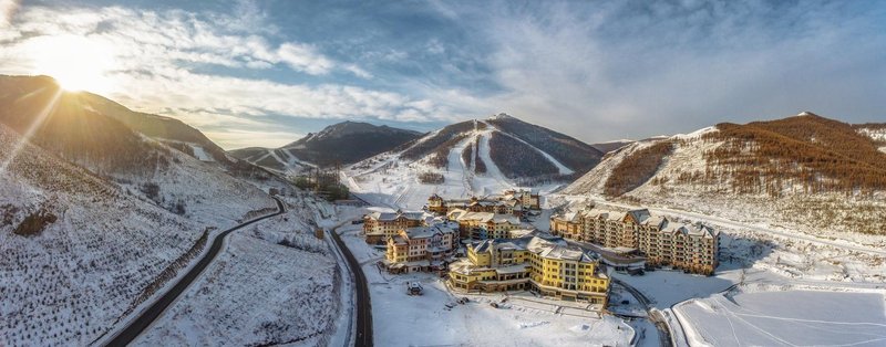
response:
<path id="1" fill-rule="evenodd" d="M 883 292 L 741 288 L 674 307 L 692 346 L 884 346 Z"/>

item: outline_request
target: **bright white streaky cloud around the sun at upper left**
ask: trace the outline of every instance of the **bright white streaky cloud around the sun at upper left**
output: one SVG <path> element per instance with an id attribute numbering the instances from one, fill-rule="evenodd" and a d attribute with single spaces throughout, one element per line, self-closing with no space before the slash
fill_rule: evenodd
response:
<path id="1" fill-rule="evenodd" d="M 207 15 L 213 21 L 204 18 Z M 361 66 L 331 59 L 311 44 L 289 40 L 275 45 L 271 42 L 278 38 L 248 31 L 249 25 L 217 13 L 122 7 L 97 10 L 24 7 L 14 21 L 13 34 L 0 35 L 0 61 L 4 62 L 0 73 L 47 73 L 40 64 L 41 56 L 68 61 L 82 52 L 55 52 L 39 44 L 41 40 L 69 36 L 85 40 L 109 55 L 103 57 L 97 74 L 112 81 L 110 84 L 115 87 L 97 92 L 106 92 L 105 96 L 134 109 L 178 117 L 199 128 L 213 129 L 210 136 L 226 148 L 245 143 L 222 134 L 267 133 L 274 127 L 267 118 L 271 115 L 433 122 L 437 117 L 432 113 L 440 112 L 426 103 L 420 104 L 421 109 L 413 108 L 409 104 L 415 99 L 406 95 L 332 82 L 334 78 L 278 82 L 218 70 L 260 72 L 284 65 L 310 76 L 342 72 L 359 78 L 372 77 Z M 292 81 L 282 81 L 287 80 Z M 276 136 L 259 137 L 250 144 L 265 140 L 266 145 L 275 145 L 282 137 Z M 296 136 L 290 134 L 289 141 Z"/>

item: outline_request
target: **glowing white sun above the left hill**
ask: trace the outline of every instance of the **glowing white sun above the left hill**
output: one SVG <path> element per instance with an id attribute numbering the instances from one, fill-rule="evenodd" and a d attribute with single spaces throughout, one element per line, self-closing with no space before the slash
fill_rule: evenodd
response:
<path id="1" fill-rule="evenodd" d="M 55 78 L 65 91 L 106 94 L 114 91 L 111 72 L 115 67 L 109 44 L 76 35 L 34 39 L 29 48 L 33 73 Z"/>

